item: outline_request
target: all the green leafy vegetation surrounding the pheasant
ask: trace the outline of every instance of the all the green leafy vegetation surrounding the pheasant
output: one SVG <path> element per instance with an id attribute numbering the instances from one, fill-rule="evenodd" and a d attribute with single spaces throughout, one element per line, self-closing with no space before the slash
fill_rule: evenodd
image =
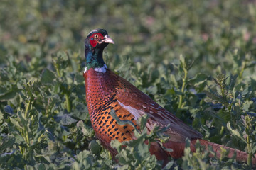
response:
<path id="1" fill-rule="evenodd" d="M 253 1 L 2 0 L 0 11 L 0 169 L 251 169 Z M 247 162 L 225 158 L 224 149 L 210 158 L 198 145 L 162 166 L 144 143 L 166 140 L 157 127 L 136 131 L 127 147 L 112 141 L 115 162 L 95 138 L 85 102 L 83 40 L 94 28 L 115 42 L 104 53 L 110 69 L 203 139 L 247 152 Z"/>

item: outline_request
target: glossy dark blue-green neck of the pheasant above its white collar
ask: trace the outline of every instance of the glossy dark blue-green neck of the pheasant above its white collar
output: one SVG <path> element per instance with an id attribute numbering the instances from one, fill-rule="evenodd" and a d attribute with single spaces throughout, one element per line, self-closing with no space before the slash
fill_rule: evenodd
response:
<path id="1" fill-rule="evenodd" d="M 103 48 L 92 48 L 89 45 L 85 45 L 85 59 L 86 67 L 90 68 L 102 68 L 105 66 L 105 62 L 102 57 Z"/>

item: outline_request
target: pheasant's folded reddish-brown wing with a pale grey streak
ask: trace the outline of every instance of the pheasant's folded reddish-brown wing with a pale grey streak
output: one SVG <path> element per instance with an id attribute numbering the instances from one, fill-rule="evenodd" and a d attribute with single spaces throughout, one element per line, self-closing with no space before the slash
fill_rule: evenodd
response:
<path id="1" fill-rule="evenodd" d="M 153 128 L 154 124 L 159 125 L 161 128 L 170 125 L 166 133 L 170 136 L 170 141 L 173 142 L 184 142 L 187 137 L 188 139 L 202 138 L 200 132 L 193 130 L 175 115 L 159 106 L 158 103 L 142 93 L 142 91 L 139 91 L 129 81 L 122 77 L 118 77 L 118 79 L 119 87 L 116 88 L 117 102 L 122 108 L 134 115 L 135 120 L 144 114 L 149 115 L 149 120 L 146 123 L 146 127 L 149 130 Z"/>

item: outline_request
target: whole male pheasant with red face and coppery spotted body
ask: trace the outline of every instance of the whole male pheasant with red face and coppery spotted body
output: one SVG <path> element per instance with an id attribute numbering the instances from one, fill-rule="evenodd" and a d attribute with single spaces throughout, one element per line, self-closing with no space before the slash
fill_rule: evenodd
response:
<path id="1" fill-rule="evenodd" d="M 134 123 L 136 128 L 137 119 L 142 115 L 148 115 L 146 128 L 148 132 L 152 130 L 154 125 L 164 128 L 169 125 L 166 134 L 169 140 L 163 145 L 166 148 L 173 149 L 172 152 L 164 150 L 159 143 L 151 142 L 149 152 L 156 156 L 156 159 L 168 162 L 168 157 L 180 158 L 184 154 L 186 138 L 191 140 L 191 151 L 195 152 L 196 140 L 200 144 L 213 148 L 217 157 L 220 157 L 220 148 L 229 150 L 228 157 L 231 158 L 236 153 L 238 162 L 247 161 L 247 153 L 213 142 L 202 140 L 200 132 L 193 130 L 190 126 L 183 123 L 175 115 L 159 106 L 149 96 L 139 91 L 129 81 L 114 74 L 107 68 L 102 52 L 107 45 L 114 41 L 109 37 L 106 30 L 92 30 L 85 39 L 85 58 L 86 68 L 83 73 L 85 78 L 86 102 L 90 113 L 92 128 L 95 135 L 104 147 L 110 150 L 114 156 L 117 151 L 110 146 L 111 140 L 119 140 L 119 142 L 134 139 L 134 127 L 132 125 L 119 125 L 110 112 L 115 111 L 120 120 L 129 120 Z M 252 164 L 256 164 L 254 158 Z"/>

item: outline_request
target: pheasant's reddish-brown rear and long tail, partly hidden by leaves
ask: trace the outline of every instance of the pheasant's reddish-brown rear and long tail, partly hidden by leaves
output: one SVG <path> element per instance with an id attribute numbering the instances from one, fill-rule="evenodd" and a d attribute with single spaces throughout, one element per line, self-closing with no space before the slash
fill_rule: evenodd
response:
<path id="1" fill-rule="evenodd" d="M 208 146 L 211 146 L 218 158 L 220 158 L 220 153 L 221 153 L 220 148 L 223 148 L 223 149 L 226 149 L 229 151 L 228 156 L 227 156 L 228 158 L 232 158 L 234 156 L 234 154 L 236 153 L 235 159 L 237 160 L 237 162 L 247 162 L 248 154 L 246 152 L 240 151 L 238 149 L 233 149 L 230 147 L 225 147 L 223 145 L 218 145 L 213 142 L 208 142 L 206 140 L 201 140 L 201 139 L 191 140 L 191 151 L 192 152 L 196 152 L 196 147 L 195 147 L 196 140 L 199 140 L 200 144 L 202 146 L 205 146 L 206 149 L 208 149 Z M 171 156 L 173 158 L 180 158 L 184 154 L 185 143 L 169 141 L 164 144 L 164 147 L 173 149 L 173 152 L 168 152 L 169 156 Z M 213 155 L 212 155 L 212 157 L 213 157 Z M 252 165 L 256 166 L 256 158 L 255 157 L 252 157 Z"/>

